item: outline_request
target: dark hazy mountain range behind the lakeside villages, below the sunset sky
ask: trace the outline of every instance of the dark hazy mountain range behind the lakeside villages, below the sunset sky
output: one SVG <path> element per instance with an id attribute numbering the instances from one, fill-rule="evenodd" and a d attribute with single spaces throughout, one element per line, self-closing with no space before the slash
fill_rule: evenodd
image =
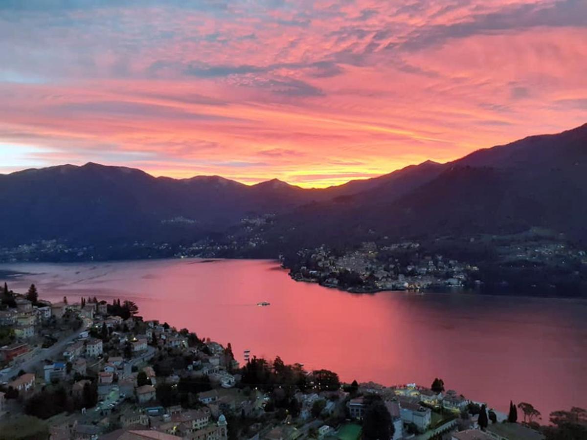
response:
<path id="1" fill-rule="evenodd" d="M 587 124 L 324 189 L 276 179 L 249 186 L 219 176 L 156 178 L 126 167 L 60 165 L 0 175 L 0 247 L 56 239 L 126 246 L 124 256 L 133 258 L 133 249 L 146 243 L 173 248 L 256 236 L 254 255 L 272 257 L 321 243 L 533 227 L 586 243 L 586 201 Z M 243 218 L 267 214 L 274 216 L 261 228 L 242 230 Z"/>

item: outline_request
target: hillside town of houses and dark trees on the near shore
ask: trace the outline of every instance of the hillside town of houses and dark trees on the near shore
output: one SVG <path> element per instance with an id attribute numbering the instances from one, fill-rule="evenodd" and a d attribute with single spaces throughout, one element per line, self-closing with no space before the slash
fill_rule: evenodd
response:
<path id="1" fill-rule="evenodd" d="M 430 387 L 342 383 L 248 350 L 241 366 L 230 343 L 144 321 L 128 300 L 51 303 L 34 285 L 0 294 L 0 439 L 587 438 L 581 408 L 541 426 L 527 402 L 510 401 L 505 414 L 440 378 Z"/>

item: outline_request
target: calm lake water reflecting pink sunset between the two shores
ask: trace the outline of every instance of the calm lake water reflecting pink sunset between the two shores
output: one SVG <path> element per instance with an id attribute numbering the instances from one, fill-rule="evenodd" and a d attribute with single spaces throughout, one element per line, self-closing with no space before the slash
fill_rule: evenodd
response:
<path id="1" fill-rule="evenodd" d="M 279 355 L 342 380 L 429 386 L 506 411 L 587 407 L 587 302 L 465 293 L 356 295 L 298 283 L 266 260 L 197 259 L 0 265 L 42 298 L 131 299 L 144 319 L 232 343 L 235 355 Z M 261 301 L 271 303 L 259 307 Z"/>

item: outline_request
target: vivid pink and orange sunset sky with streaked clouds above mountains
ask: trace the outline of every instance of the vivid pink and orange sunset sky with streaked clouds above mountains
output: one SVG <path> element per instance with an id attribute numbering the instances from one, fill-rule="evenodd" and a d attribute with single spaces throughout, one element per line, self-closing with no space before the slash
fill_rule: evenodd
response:
<path id="1" fill-rule="evenodd" d="M 585 0 L 0 0 L 2 173 L 325 187 L 585 122 Z"/>

